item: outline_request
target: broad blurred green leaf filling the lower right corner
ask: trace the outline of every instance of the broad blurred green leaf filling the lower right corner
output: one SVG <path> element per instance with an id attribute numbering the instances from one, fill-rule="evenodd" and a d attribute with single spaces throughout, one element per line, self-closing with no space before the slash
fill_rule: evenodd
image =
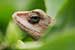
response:
<path id="1" fill-rule="evenodd" d="M 75 50 L 75 28 L 49 35 L 45 45 L 37 50 Z"/>

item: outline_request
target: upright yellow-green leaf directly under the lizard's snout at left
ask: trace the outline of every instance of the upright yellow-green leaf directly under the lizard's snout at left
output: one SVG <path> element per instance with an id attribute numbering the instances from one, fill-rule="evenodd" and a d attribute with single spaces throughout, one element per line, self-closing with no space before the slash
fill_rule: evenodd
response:
<path id="1" fill-rule="evenodd" d="M 8 45 L 12 45 L 15 44 L 18 40 L 22 39 L 24 36 L 25 33 L 22 32 L 19 27 L 11 21 L 7 27 L 5 42 Z"/>

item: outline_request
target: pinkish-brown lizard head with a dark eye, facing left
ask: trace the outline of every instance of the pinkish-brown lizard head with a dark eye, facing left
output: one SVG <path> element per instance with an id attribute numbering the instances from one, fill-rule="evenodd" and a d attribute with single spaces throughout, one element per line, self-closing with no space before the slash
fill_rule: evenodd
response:
<path id="1" fill-rule="evenodd" d="M 13 14 L 13 20 L 24 31 L 27 31 L 33 39 L 38 40 L 44 30 L 51 24 L 52 18 L 43 10 L 18 11 Z"/>

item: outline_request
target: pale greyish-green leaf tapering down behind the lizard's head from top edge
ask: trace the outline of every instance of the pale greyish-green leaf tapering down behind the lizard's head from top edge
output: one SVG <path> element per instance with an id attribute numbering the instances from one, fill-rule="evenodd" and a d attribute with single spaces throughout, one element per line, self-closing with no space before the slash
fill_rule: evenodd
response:
<path id="1" fill-rule="evenodd" d="M 45 0 L 48 15 L 55 17 L 67 0 Z"/>

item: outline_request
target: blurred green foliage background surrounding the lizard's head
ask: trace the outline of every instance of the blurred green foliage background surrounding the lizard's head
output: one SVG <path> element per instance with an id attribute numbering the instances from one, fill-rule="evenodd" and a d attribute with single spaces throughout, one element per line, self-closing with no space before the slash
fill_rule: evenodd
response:
<path id="1" fill-rule="evenodd" d="M 75 50 L 74 0 L 0 0 L 0 44 L 7 44 L 8 50 L 15 49 L 13 46 L 17 40 L 26 37 L 26 32 L 22 32 L 12 22 L 12 14 L 33 9 L 44 10 L 56 19 L 56 24 L 45 32 L 46 35 L 41 40 L 43 46 L 30 50 Z M 24 41 L 28 39 L 30 37 Z M 1 47 L 4 46 L 0 45 L 0 49 Z"/>

